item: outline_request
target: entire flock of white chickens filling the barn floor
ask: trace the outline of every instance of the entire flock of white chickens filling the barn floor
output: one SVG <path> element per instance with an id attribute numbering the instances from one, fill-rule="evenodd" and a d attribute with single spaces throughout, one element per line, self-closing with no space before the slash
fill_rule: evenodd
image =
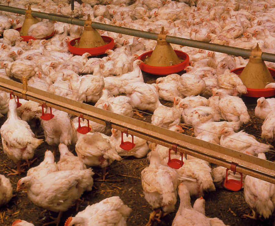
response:
<path id="1" fill-rule="evenodd" d="M 30 5 L 34 11 L 83 20 L 90 15 L 95 22 L 155 33 L 164 27 L 167 35 L 246 49 L 258 44 L 263 52 L 275 53 L 275 3 L 271 0 L 82 0 L 74 2 L 74 11 L 66 0 L 1 0 L 0 4 L 23 9 Z M 153 50 L 156 41 L 98 30 L 115 40 L 115 48 L 106 50 L 101 58 L 90 57 L 89 53 L 74 56 L 68 51 L 68 42 L 80 37 L 83 27 L 38 20 L 28 31 L 35 40 L 26 42 L 15 30 L 22 26 L 24 15 L 1 12 L 1 77 L 22 82 L 26 76 L 29 86 L 127 117 L 137 114 L 142 118 L 144 113 L 150 113 L 153 125 L 180 133 L 188 126 L 194 128 L 196 138 L 261 159 L 273 151 L 274 98 L 261 97 L 255 107 L 255 116 L 264 120 L 261 137 L 265 143 L 240 130 L 251 120 L 240 98 L 247 90 L 231 70 L 245 66 L 247 59 L 172 44 L 190 57 L 186 73 L 159 76 L 149 84 L 144 82 L 139 68 L 142 61 L 137 58 Z M 51 38 L 43 39 L 52 32 Z M 275 69 L 274 63 L 266 64 Z M 275 88 L 273 83 L 267 87 Z M 171 102 L 172 107 L 164 106 L 160 100 Z M 0 116 L 6 119 L 0 129 L 3 151 L 17 167 L 6 176 L 24 175 L 16 191 L 25 190 L 32 203 L 58 212 L 58 217 L 47 224 L 126 225 L 132 210 L 119 196 L 88 205 L 66 222 L 60 219 L 71 205 L 76 204 L 78 210 L 84 192 L 93 192 L 92 167 L 101 168 L 104 181 L 108 173 L 112 174 L 108 166 L 114 161 L 123 156 L 147 156 L 150 163 L 140 175 L 143 197 L 154 210 L 147 225 L 171 212 L 176 212 L 172 225 L 225 225 L 217 217 L 205 216 L 207 200 L 203 196 L 223 184 L 226 168 L 211 168 L 208 162 L 187 156 L 184 165 L 175 170 L 167 166 L 167 147 L 134 137 L 135 147 L 125 151 L 120 147 L 121 136 L 130 142 L 132 136 L 96 122 L 90 122 L 91 131 L 83 135 L 76 129 L 79 124 L 87 126 L 87 122 L 57 109 L 46 107 L 45 111 L 52 111 L 53 119 L 42 120 L 42 108 L 36 102 L 0 93 Z M 36 138 L 32 131 L 40 125 L 44 139 Z M 50 145 L 53 152 L 47 150 L 44 160 L 31 167 L 35 150 L 42 142 Z M 57 150 L 60 159 L 55 162 Z M 171 152 L 171 158 L 180 160 L 181 155 Z M 27 161 L 27 172 L 22 169 L 23 160 Z M 237 178 L 237 174 L 229 172 L 229 177 Z M 244 178 L 244 198 L 253 213 L 246 217 L 269 218 L 275 205 L 275 185 L 251 176 Z M 180 205 L 176 210 L 178 195 Z M 9 179 L 0 175 L 0 205 L 5 206 L 12 197 Z M 198 198 L 193 207 L 190 197 Z M 13 225 L 34 224 L 18 219 Z"/>

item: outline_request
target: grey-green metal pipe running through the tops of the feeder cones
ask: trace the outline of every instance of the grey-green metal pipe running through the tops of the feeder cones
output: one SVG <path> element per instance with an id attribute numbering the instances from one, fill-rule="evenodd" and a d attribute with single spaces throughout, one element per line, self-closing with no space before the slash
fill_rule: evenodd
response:
<path id="1" fill-rule="evenodd" d="M 26 13 L 26 9 L 20 9 L 20 8 L 5 6 L 5 5 L 0 5 L 0 10 L 10 12 L 10 13 L 18 13 L 18 14 Z M 39 17 L 39 18 L 48 19 L 48 20 L 55 20 L 63 23 L 70 23 L 70 24 L 75 24 L 80 26 L 84 26 L 84 23 L 85 23 L 85 20 L 72 18 L 68 16 L 62 16 L 54 13 L 42 13 L 42 12 L 32 11 L 31 15 L 34 17 Z M 152 40 L 157 40 L 159 35 L 157 33 L 135 30 L 131 28 L 119 27 L 115 25 L 109 25 L 109 24 L 97 23 L 97 22 L 93 22 L 91 24 L 91 27 L 93 27 L 94 29 L 107 30 L 115 33 L 127 34 L 127 35 L 136 36 L 139 38 L 146 38 L 146 39 L 152 39 Z M 186 38 L 179 38 L 179 37 L 174 37 L 170 35 L 167 35 L 165 40 L 173 44 L 185 45 L 185 46 L 194 47 L 194 48 L 201 48 L 201 49 L 206 49 L 214 52 L 222 52 L 229 55 L 242 56 L 245 58 L 249 58 L 249 56 L 251 55 L 251 50 L 249 49 L 236 48 L 236 47 L 231 47 L 226 45 L 218 45 L 214 43 L 196 41 L 196 40 L 191 40 Z M 262 57 L 262 60 L 264 61 L 275 62 L 275 54 L 262 52 L 261 57 Z"/>

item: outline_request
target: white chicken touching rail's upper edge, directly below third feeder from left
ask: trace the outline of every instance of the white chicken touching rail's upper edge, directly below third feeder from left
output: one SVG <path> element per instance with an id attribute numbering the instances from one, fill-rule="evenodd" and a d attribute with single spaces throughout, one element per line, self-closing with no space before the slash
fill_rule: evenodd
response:
<path id="1" fill-rule="evenodd" d="M 171 126 L 178 125 L 181 117 L 182 109 L 175 104 L 173 107 L 159 106 L 154 110 L 151 124 L 169 129 Z"/>

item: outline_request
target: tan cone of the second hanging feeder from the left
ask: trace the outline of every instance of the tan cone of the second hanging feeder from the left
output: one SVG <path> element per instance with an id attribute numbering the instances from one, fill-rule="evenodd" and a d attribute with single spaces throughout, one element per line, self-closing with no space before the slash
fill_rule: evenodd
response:
<path id="1" fill-rule="evenodd" d="M 92 20 L 90 14 L 88 14 L 88 19 L 85 21 L 84 31 L 79 40 L 78 48 L 95 48 L 106 43 L 101 38 L 100 34 L 91 27 Z"/>

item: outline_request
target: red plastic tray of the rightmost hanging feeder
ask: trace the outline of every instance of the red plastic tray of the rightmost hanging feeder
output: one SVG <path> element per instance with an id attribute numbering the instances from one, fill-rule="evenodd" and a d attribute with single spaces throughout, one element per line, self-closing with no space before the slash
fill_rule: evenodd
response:
<path id="1" fill-rule="evenodd" d="M 244 67 L 239 67 L 231 72 L 240 75 L 241 72 L 244 70 Z M 275 77 L 275 70 L 269 68 L 270 74 L 272 77 Z M 269 97 L 269 96 L 275 96 L 275 89 L 267 88 L 267 89 L 252 89 L 252 88 L 246 88 L 247 94 L 243 94 L 243 96 L 250 96 L 250 97 Z"/>

